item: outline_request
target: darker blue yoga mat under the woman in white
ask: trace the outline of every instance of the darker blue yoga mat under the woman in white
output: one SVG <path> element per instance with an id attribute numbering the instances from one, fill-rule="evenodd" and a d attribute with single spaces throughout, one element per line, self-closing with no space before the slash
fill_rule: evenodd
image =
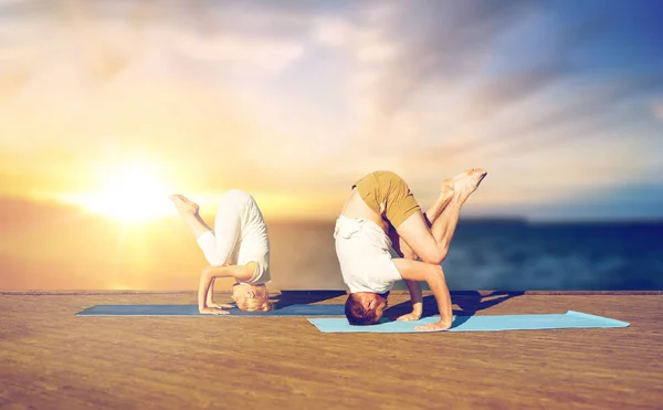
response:
<path id="1" fill-rule="evenodd" d="M 243 312 L 236 307 L 218 316 L 344 316 L 344 305 L 288 305 L 270 312 Z M 198 305 L 96 305 L 76 316 L 213 316 L 198 313 Z"/>

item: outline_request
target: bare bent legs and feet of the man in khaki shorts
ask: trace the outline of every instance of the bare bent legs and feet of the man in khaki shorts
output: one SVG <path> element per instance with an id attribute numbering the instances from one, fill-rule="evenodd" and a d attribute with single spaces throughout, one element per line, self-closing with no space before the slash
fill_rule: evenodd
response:
<path id="1" fill-rule="evenodd" d="M 439 208 L 439 211 L 433 209 L 431 214 L 427 213 L 432 222 L 430 229 L 421 212 L 412 214 L 397 228 L 399 236 L 423 262 L 438 265 L 446 257 L 461 208 L 485 176 L 486 172 L 482 169 L 469 170 L 456 176 L 453 182 L 453 197 L 449 204 L 443 208 L 443 211 Z"/>

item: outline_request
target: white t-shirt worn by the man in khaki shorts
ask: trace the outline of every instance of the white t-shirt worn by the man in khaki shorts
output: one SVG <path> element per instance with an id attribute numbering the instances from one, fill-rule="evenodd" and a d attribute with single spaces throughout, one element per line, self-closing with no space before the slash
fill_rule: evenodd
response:
<path id="1" fill-rule="evenodd" d="M 391 261 L 391 241 L 375 222 L 340 215 L 334 238 L 343 281 L 351 293 L 385 293 L 402 280 Z"/>

